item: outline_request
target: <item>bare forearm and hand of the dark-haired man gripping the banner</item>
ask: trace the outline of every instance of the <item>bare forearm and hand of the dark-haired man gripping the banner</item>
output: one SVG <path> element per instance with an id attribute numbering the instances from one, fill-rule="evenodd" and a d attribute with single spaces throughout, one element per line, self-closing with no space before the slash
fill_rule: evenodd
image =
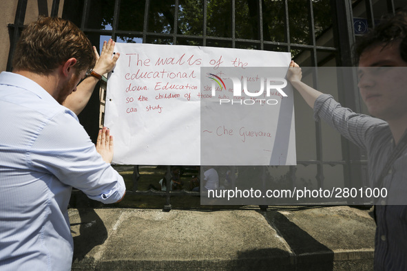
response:
<path id="1" fill-rule="evenodd" d="M 313 109 L 315 100 L 322 95 L 322 92 L 302 83 L 301 78 L 302 72 L 300 66 L 294 61 L 291 61 L 289 71 L 287 72 L 287 79 L 290 81 L 291 85 L 298 90 L 306 103 Z"/>

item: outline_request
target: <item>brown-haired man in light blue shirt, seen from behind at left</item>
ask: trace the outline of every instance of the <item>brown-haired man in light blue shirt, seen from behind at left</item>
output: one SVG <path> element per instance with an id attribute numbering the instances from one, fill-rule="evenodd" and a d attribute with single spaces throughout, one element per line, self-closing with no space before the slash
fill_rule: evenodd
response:
<path id="1" fill-rule="evenodd" d="M 13 72 L 0 74 L 0 270 L 71 270 L 72 187 L 105 204 L 125 195 L 109 130 L 95 147 L 61 105 L 95 61 L 73 23 L 41 17 L 21 33 Z"/>

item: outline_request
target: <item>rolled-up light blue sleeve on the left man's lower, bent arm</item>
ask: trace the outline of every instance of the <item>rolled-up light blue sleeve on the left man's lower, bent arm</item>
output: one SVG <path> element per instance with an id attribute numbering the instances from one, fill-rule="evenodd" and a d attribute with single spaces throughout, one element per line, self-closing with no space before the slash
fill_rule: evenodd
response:
<path id="1" fill-rule="evenodd" d="M 53 175 L 63 184 L 105 204 L 117 202 L 123 197 L 123 177 L 103 160 L 69 110 L 45 120 L 34 133 L 38 136 L 27 155 L 33 171 Z"/>

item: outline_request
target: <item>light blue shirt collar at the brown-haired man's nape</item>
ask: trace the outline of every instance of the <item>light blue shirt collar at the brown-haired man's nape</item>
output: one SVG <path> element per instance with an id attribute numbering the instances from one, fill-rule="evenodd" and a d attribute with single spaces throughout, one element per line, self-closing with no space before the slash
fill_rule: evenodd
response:
<path id="1" fill-rule="evenodd" d="M 57 102 L 54 97 L 52 97 L 51 94 L 43 89 L 43 87 L 41 87 L 38 83 L 20 74 L 14 74 L 14 72 L 1 72 L 0 85 L 12 85 L 15 87 L 20 87 L 21 89 L 31 91 L 43 100 L 55 102 L 59 105 L 59 102 Z"/>

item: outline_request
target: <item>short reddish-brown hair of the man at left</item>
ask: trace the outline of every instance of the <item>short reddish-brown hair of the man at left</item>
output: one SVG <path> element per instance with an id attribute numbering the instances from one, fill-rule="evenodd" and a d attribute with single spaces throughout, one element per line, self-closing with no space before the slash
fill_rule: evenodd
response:
<path id="1" fill-rule="evenodd" d="M 12 65 L 13 69 L 50 74 L 72 57 L 76 58 L 76 73 L 94 66 L 89 39 L 71 21 L 41 16 L 21 33 Z"/>

